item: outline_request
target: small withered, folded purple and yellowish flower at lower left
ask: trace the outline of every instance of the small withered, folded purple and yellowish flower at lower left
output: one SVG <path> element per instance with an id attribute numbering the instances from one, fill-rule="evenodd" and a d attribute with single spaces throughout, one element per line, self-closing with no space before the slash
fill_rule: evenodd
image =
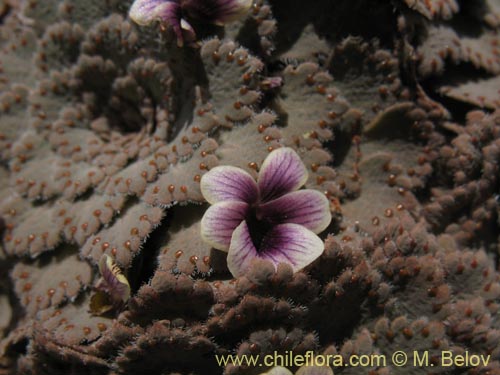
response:
<path id="1" fill-rule="evenodd" d="M 97 292 L 90 300 L 90 311 L 103 315 L 111 310 L 120 310 L 130 298 L 130 284 L 114 260 L 103 254 L 99 260 L 101 278 L 97 282 Z"/>

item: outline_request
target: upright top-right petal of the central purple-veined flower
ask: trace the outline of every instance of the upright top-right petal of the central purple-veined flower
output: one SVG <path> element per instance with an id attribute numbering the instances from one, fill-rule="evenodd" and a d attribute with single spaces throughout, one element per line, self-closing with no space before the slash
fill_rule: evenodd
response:
<path id="1" fill-rule="evenodd" d="M 295 191 L 307 181 L 307 170 L 297 153 L 288 147 L 271 152 L 259 172 L 261 202 Z"/>

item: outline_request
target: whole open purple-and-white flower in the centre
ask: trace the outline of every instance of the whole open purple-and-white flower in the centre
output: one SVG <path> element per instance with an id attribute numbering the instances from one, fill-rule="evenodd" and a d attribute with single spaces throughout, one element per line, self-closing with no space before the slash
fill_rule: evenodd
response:
<path id="1" fill-rule="evenodd" d="M 233 276 L 242 275 L 254 258 L 298 271 L 324 250 L 316 235 L 332 219 L 328 199 L 317 190 L 298 190 L 307 170 L 291 148 L 272 151 L 258 180 L 246 171 L 219 166 L 201 179 L 201 192 L 212 204 L 201 220 L 202 238 L 228 251 Z"/>

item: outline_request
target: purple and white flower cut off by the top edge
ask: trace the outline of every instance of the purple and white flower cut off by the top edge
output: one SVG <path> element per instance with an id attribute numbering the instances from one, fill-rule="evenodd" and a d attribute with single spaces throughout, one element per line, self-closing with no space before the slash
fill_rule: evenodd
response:
<path id="1" fill-rule="evenodd" d="M 194 41 L 196 34 L 190 20 L 224 25 L 247 14 L 253 0 L 135 0 L 130 18 L 139 25 L 154 21 L 172 28 L 177 45 Z"/>

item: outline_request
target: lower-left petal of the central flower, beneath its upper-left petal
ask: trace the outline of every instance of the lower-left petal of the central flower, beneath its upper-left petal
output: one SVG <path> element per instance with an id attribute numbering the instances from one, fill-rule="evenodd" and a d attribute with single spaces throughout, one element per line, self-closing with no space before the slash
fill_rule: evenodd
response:
<path id="1" fill-rule="evenodd" d="M 216 249 L 227 251 L 234 230 L 249 210 L 239 201 L 219 202 L 210 206 L 201 219 L 201 237 Z"/>

